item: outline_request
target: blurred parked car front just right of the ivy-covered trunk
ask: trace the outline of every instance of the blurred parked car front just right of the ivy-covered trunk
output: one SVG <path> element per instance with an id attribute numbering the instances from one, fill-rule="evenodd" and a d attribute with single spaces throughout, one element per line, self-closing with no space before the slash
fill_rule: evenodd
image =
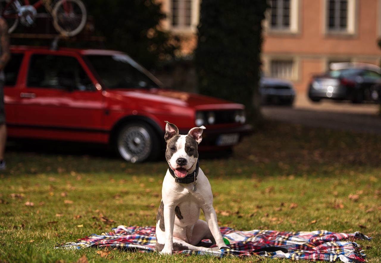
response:
<path id="1" fill-rule="evenodd" d="M 295 99 L 293 84 L 280 78 L 262 77 L 259 83 L 259 94 L 261 95 L 261 103 L 264 105 L 291 106 Z"/>

